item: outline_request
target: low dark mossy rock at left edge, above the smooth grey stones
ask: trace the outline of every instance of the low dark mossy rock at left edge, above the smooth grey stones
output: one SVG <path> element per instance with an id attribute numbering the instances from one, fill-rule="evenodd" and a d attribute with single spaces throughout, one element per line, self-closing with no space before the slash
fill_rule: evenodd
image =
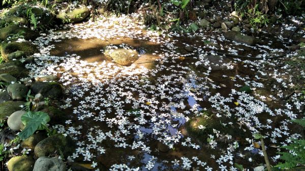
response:
<path id="1" fill-rule="evenodd" d="M 28 76 L 28 71 L 17 61 L 9 61 L 0 64 L 0 74 L 10 74 L 16 78 Z"/>

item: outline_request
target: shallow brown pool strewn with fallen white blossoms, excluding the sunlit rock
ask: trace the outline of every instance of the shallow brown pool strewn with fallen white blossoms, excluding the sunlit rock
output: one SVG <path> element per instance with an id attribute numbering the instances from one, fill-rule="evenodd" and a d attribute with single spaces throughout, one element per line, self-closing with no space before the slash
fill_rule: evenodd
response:
<path id="1" fill-rule="evenodd" d="M 285 107 L 258 72 L 264 61 L 216 52 L 279 55 L 287 45 L 267 34 L 250 47 L 214 34 L 159 36 L 124 23 L 80 24 L 35 42 L 40 58 L 28 66 L 32 75 L 60 76 L 66 89 L 67 120 L 53 128 L 77 142 L 68 160 L 97 162 L 101 170 L 252 168 L 264 163 L 254 132 L 269 136 L 268 154 L 277 155 L 288 136 L 273 134 L 289 117 L 277 115 Z M 109 45 L 127 45 L 140 57 L 117 65 L 103 54 Z M 240 92 L 245 85 L 254 92 Z"/>

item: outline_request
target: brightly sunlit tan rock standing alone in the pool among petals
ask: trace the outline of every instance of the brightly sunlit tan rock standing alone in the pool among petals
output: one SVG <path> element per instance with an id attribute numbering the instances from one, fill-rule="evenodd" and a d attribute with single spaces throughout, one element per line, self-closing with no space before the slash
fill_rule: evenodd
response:
<path id="1" fill-rule="evenodd" d="M 110 49 L 106 50 L 104 54 L 107 58 L 123 66 L 131 65 L 139 58 L 138 52 L 132 49 Z"/>

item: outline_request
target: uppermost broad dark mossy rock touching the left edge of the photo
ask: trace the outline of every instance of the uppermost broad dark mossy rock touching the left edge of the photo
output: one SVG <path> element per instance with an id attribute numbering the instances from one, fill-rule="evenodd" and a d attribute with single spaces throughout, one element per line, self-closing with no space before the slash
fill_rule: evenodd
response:
<path id="1" fill-rule="evenodd" d="M 37 32 L 27 27 L 9 25 L 0 29 L 0 40 L 5 41 L 9 36 L 13 36 L 18 33 L 22 33 L 21 35 L 24 37 L 25 40 L 35 40 L 39 36 Z"/>

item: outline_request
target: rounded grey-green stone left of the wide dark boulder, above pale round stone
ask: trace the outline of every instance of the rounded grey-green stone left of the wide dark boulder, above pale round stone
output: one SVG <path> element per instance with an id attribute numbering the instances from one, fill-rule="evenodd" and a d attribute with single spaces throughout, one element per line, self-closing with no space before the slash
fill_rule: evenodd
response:
<path id="1" fill-rule="evenodd" d="M 26 97 L 28 88 L 23 84 L 14 83 L 8 86 L 8 93 L 13 100 L 22 100 Z"/>

